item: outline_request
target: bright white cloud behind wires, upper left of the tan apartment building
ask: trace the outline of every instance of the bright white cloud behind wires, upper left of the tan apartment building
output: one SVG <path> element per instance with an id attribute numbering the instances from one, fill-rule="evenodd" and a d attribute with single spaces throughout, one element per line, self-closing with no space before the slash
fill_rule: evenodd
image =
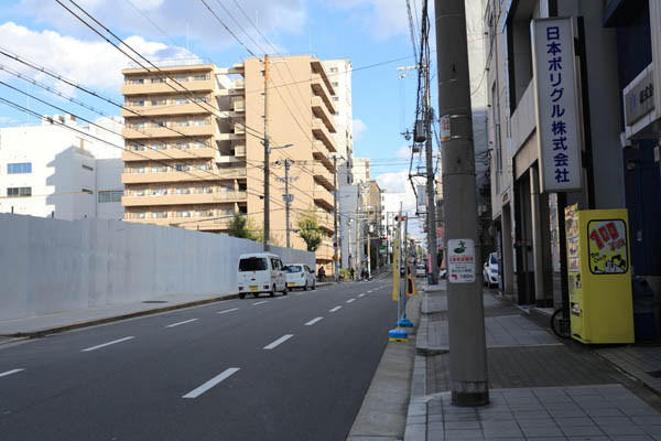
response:
<path id="1" fill-rule="evenodd" d="M 0 42 L 3 49 L 68 79 L 90 88 L 113 93 L 119 93 L 121 69 L 126 68 L 129 62 L 126 55 L 106 42 L 82 41 L 48 30 L 36 32 L 12 22 L 0 24 Z M 195 57 L 185 49 L 145 41 L 141 36 L 130 36 L 126 42 L 151 61 Z M 3 60 L 3 63 L 7 61 L 8 58 Z M 35 75 L 34 71 L 15 62 L 12 62 L 10 67 L 53 84 L 44 74 Z M 55 83 L 55 87 L 59 92 L 72 93 L 68 86 L 65 87 L 59 82 Z"/>

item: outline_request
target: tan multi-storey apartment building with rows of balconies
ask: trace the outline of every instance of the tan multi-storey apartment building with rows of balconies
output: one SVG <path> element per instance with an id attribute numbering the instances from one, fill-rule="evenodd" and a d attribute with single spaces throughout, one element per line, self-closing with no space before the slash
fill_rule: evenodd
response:
<path id="1" fill-rule="evenodd" d="M 286 243 L 284 173 L 290 163 L 293 232 L 314 214 L 325 234 L 317 262 L 333 258 L 332 154 L 336 152 L 335 89 L 322 62 L 307 55 L 248 58 L 232 67 L 163 65 L 160 73 L 122 71 L 131 150 L 122 198 L 128 222 L 225 233 L 235 215 L 263 228 L 264 110 L 268 103 L 271 243 Z M 290 146 L 288 148 L 281 148 Z"/>

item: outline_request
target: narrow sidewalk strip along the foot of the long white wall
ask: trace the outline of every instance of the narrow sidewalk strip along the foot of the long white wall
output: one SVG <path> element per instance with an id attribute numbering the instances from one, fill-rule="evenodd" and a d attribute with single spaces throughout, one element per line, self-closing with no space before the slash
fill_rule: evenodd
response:
<path id="1" fill-rule="evenodd" d="M 317 282 L 316 286 L 321 288 L 333 283 L 335 282 Z M 235 293 L 173 294 L 141 302 L 108 304 L 85 310 L 4 320 L 0 321 L 0 344 L 11 343 L 20 337 L 35 338 L 79 327 L 94 326 L 141 315 L 158 314 L 160 312 L 236 298 L 238 298 L 238 294 Z"/>

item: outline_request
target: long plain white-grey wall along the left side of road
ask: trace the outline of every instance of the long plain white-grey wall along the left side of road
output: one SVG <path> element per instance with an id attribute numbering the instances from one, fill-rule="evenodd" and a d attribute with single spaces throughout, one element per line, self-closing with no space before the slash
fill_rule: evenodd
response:
<path id="1" fill-rule="evenodd" d="M 120 220 L 0 214 L 0 320 L 143 301 L 232 293 L 238 257 L 262 244 Z M 314 252 L 272 247 L 314 268 Z"/>

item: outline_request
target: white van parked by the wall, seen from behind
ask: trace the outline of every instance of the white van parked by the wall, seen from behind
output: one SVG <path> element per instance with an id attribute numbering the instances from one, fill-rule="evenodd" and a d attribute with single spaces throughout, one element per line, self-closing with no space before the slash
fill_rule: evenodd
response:
<path id="1" fill-rule="evenodd" d="M 245 299 L 247 293 L 258 297 L 262 292 L 268 292 L 273 297 L 278 291 L 283 295 L 289 292 L 282 260 L 271 252 L 241 255 L 237 281 L 241 299 Z"/>

